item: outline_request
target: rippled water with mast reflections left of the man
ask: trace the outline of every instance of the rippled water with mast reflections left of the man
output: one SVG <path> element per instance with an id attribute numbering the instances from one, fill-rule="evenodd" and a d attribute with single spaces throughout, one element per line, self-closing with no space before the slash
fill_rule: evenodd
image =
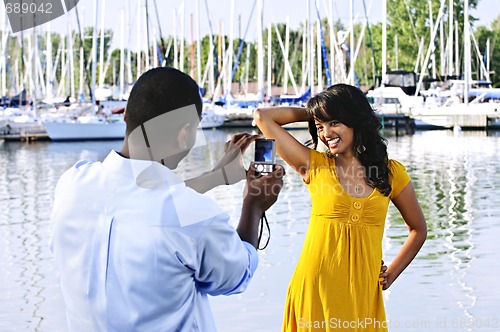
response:
<path id="1" fill-rule="evenodd" d="M 65 330 L 48 220 L 57 179 L 82 157 L 100 155 L 64 143 L 0 147 L 0 330 Z"/>

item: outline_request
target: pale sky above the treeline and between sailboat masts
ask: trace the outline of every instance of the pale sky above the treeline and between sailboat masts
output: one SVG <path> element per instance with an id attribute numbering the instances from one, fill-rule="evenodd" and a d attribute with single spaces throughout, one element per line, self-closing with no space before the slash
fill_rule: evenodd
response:
<path id="1" fill-rule="evenodd" d="M 219 34 L 220 25 L 224 26 L 225 34 L 229 34 L 231 25 L 231 0 L 156 0 L 158 6 L 158 13 L 160 16 L 160 26 L 161 34 L 163 36 L 174 34 L 174 12 L 177 16 L 177 31 L 178 35 L 181 31 L 180 18 L 184 17 L 184 36 L 186 40 L 190 40 L 190 17 L 193 15 L 193 21 L 195 21 L 196 3 L 199 1 L 200 4 L 200 34 L 205 36 L 209 34 L 209 19 L 212 24 L 212 31 L 214 34 Z M 349 1 L 348 0 L 316 0 L 319 4 L 320 16 L 326 17 L 329 11 L 330 3 L 333 8 L 334 19 L 339 19 L 346 25 L 349 24 Z M 369 21 L 371 23 L 376 23 L 381 20 L 381 0 L 364 0 L 366 3 L 367 10 L 369 4 L 372 1 L 372 8 L 369 14 Z M 401 0 L 402 1 L 402 0 Z M 146 36 L 146 29 L 144 27 L 144 19 L 146 17 L 145 4 L 148 3 L 149 16 L 150 16 L 150 34 L 159 35 L 158 19 L 155 11 L 155 0 L 97 0 L 99 10 L 101 10 L 104 4 L 104 26 L 106 29 L 112 29 L 114 31 L 113 38 L 113 48 L 119 48 L 121 43 L 121 25 L 120 17 L 121 12 L 125 13 L 127 11 L 127 4 L 130 8 L 130 19 L 125 18 L 125 32 L 124 32 L 124 43 L 125 47 L 130 47 L 136 49 L 138 45 L 138 39 L 144 42 L 144 37 Z M 308 0 L 263 0 L 263 21 L 264 27 L 270 22 L 273 23 L 284 23 L 287 17 L 290 22 L 290 27 L 292 29 L 298 28 L 299 24 L 306 19 L 307 16 L 307 2 Z M 78 3 L 78 11 L 81 15 L 81 20 L 83 21 L 83 26 L 93 26 L 95 21 L 95 3 L 96 0 L 80 0 Z M 139 10 L 138 5 L 140 3 L 141 10 Z M 208 5 L 209 15 L 207 15 L 207 10 L 205 3 Z M 252 11 L 252 5 L 254 0 L 234 0 L 234 22 L 233 22 L 233 33 L 234 37 L 238 37 L 241 34 L 243 37 L 245 28 L 247 27 L 250 13 Z M 182 7 L 184 4 L 184 11 Z M 311 4 L 311 17 L 316 18 L 315 0 L 310 0 Z M 357 22 L 362 22 L 364 18 L 363 0 L 353 0 L 353 12 L 354 15 L 359 15 Z M 257 35 L 257 5 L 252 16 L 252 21 L 249 24 L 247 38 L 248 40 L 255 40 Z M 102 12 L 102 10 L 101 10 Z M 184 12 L 184 15 L 182 15 Z M 490 26 L 491 22 L 500 15 L 500 0 L 479 0 L 479 5 L 477 10 L 471 11 L 471 15 L 479 18 L 478 25 Z M 3 16 L 3 15 L 2 15 Z M 137 28 L 137 20 L 142 20 L 142 25 Z M 100 26 L 99 20 L 99 26 Z M 50 23 L 50 29 L 58 32 L 67 31 L 67 27 L 70 26 L 71 29 L 77 29 L 76 26 L 76 16 L 75 10 L 73 9 L 70 13 L 52 21 Z M 46 31 L 49 28 L 48 24 L 40 26 L 38 29 L 41 31 Z M 40 31 L 39 30 L 39 31 Z M 194 39 L 196 39 L 196 23 L 193 23 L 193 34 Z M 28 31 L 29 32 L 29 31 Z"/>

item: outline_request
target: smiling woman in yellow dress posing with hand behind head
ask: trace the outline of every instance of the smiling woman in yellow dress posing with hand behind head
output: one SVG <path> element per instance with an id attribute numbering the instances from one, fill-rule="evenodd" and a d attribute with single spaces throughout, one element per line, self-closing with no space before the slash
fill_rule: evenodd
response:
<path id="1" fill-rule="evenodd" d="M 387 331 L 382 290 L 413 260 L 427 227 L 404 166 L 388 158 L 380 121 L 365 95 L 337 84 L 311 98 L 305 109 L 261 108 L 254 118 L 302 176 L 312 201 L 283 331 Z M 282 128 L 298 121 L 308 121 L 313 149 Z M 318 140 L 326 152 L 316 151 Z M 392 263 L 381 268 L 390 201 L 409 235 Z"/>

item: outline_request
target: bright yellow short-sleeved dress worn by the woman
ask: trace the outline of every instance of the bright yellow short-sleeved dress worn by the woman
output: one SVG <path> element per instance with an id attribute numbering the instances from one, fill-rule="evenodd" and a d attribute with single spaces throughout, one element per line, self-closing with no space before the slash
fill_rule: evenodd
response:
<path id="1" fill-rule="evenodd" d="M 389 201 L 410 182 L 389 161 L 391 194 L 364 198 L 342 189 L 335 159 L 311 152 L 306 181 L 311 219 L 288 287 L 283 331 L 387 331 L 379 274 Z"/>

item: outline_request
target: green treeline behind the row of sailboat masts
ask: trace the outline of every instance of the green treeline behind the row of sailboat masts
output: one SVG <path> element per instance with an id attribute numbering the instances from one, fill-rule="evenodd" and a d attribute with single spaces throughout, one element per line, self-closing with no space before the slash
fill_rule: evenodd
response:
<path id="1" fill-rule="evenodd" d="M 453 24 L 458 23 L 458 31 L 459 31 L 459 44 L 461 45 L 459 50 L 459 56 L 463 57 L 463 46 L 462 46 L 462 38 L 463 38 L 463 0 L 453 0 L 454 1 L 454 11 L 453 11 Z M 476 8 L 479 0 L 469 0 L 470 8 Z M 439 12 L 440 0 L 387 0 L 387 61 L 388 61 L 388 70 L 391 69 L 404 69 L 404 70 L 414 70 L 415 64 L 417 61 L 417 52 L 419 49 L 420 41 L 424 40 L 425 51 L 429 47 L 430 38 L 431 38 L 431 24 L 429 18 L 429 2 L 432 4 L 432 17 L 433 21 L 436 21 L 437 15 Z M 443 23 L 443 37 L 444 41 L 448 40 L 448 31 L 449 31 L 449 16 L 448 16 L 448 1 L 446 1 L 445 6 L 445 15 L 444 15 L 444 23 Z M 361 36 L 361 30 L 363 21 L 365 20 L 363 13 L 361 13 L 360 17 L 362 17 L 361 22 L 357 23 L 354 27 L 354 36 L 357 40 Z M 474 17 L 470 17 L 471 24 L 474 25 L 476 19 Z M 316 29 L 316 21 L 312 22 L 311 26 Z M 291 66 L 291 71 L 293 73 L 293 78 L 297 84 L 297 86 L 301 86 L 302 82 L 306 79 L 307 75 L 307 56 L 304 58 L 304 55 L 307 55 L 308 44 L 304 44 L 304 30 L 308 28 L 307 23 L 302 23 L 298 29 L 292 30 L 290 29 L 289 35 L 289 54 L 288 61 Z M 268 64 L 268 28 L 263 31 L 263 45 L 265 49 L 265 57 L 264 57 L 264 76 L 267 77 L 267 64 Z M 283 86 L 284 84 L 284 73 L 285 73 L 285 55 L 283 54 L 283 50 L 278 41 L 278 34 L 276 30 L 279 32 L 279 35 L 282 39 L 283 46 L 285 43 L 285 24 L 278 23 L 276 26 L 272 26 L 271 31 L 271 84 L 276 86 Z M 328 53 L 328 61 L 330 61 L 330 29 L 328 25 L 328 21 L 324 19 L 321 22 L 321 29 L 324 37 L 324 42 L 327 48 Z M 333 32 L 336 36 L 337 32 L 347 30 L 347 27 L 343 26 L 340 20 L 334 22 Z M 492 23 L 491 27 L 478 27 L 475 30 L 475 36 L 480 48 L 481 52 L 485 51 L 486 41 L 490 40 L 490 64 L 491 64 L 491 80 L 493 81 L 495 86 L 500 86 L 500 16 Z M 79 61 L 80 61 L 80 45 L 84 50 L 84 67 L 85 67 L 85 84 L 84 86 L 90 86 L 90 73 L 91 73 L 91 48 L 92 48 L 92 33 L 93 28 L 86 28 L 83 36 L 84 39 L 81 40 L 80 34 L 73 32 L 73 57 L 74 57 L 74 69 L 76 72 L 79 70 Z M 113 31 L 105 30 L 104 31 L 104 56 L 108 56 L 108 50 L 111 47 L 112 39 L 113 39 Z M 395 46 L 395 38 L 397 36 L 398 46 L 397 46 L 397 60 L 398 63 L 396 65 L 396 46 Z M 99 51 L 100 51 L 100 35 L 97 38 L 97 66 L 99 66 Z M 11 37 L 8 40 L 7 45 L 7 82 L 11 87 L 19 87 L 20 81 L 24 79 L 24 82 L 27 82 L 26 74 L 22 75 L 22 68 L 25 65 L 24 61 L 28 59 L 27 50 L 25 49 L 27 46 L 26 40 L 28 38 L 32 38 L 29 35 L 24 36 L 24 43 L 22 43 L 22 39 L 19 37 Z M 58 35 L 56 33 L 52 33 L 50 35 L 50 42 L 52 43 L 52 61 L 54 62 L 58 57 L 61 58 L 61 50 L 62 50 L 62 40 L 66 38 L 66 48 L 67 48 L 67 36 Z M 38 37 L 38 47 L 39 50 L 46 49 L 47 36 L 40 35 Z M 316 33 L 314 33 L 314 44 L 316 43 Z M 221 41 L 224 40 L 223 44 Z M 455 42 L 455 40 L 454 40 Z M 163 37 L 156 42 L 154 47 L 151 47 L 150 52 L 156 52 L 157 47 L 160 50 L 161 57 L 165 57 L 163 59 L 162 65 L 173 66 L 174 65 L 174 39 L 172 36 Z M 179 41 L 178 41 L 179 43 Z M 210 45 L 212 41 L 210 37 L 207 35 L 201 40 L 201 66 L 202 66 L 202 75 L 205 74 L 205 82 L 204 88 L 207 88 L 208 77 L 206 75 L 206 66 L 209 60 L 209 52 Z M 220 77 L 221 67 L 222 67 L 222 50 L 227 50 L 229 40 L 228 38 L 221 38 L 218 35 L 213 36 L 213 58 L 214 58 L 214 67 L 213 74 L 216 79 Z M 238 38 L 235 38 L 233 41 L 233 50 L 234 50 L 234 61 L 233 65 L 236 65 L 236 71 L 233 77 L 233 82 L 244 82 L 247 76 L 247 50 L 250 50 L 250 55 L 248 57 L 248 78 L 249 81 L 257 80 L 257 66 L 258 66 L 258 55 L 257 55 L 257 41 L 244 41 L 243 48 L 241 52 L 241 56 L 239 58 L 239 62 L 235 64 L 236 54 L 238 53 L 238 49 L 242 41 Z M 349 38 L 346 43 L 349 43 Z M 358 42 L 356 41 L 356 44 Z M 184 70 L 187 73 L 194 73 L 193 76 L 195 79 L 197 78 L 196 67 L 197 61 L 195 60 L 194 64 L 191 62 L 192 57 L 196 58 L 196 45 L 190 45 L 187 42 L 183 43 L 184 46 Z M 439 72 L 439 59 L 440 59 L 440 47 L 439 47 L 439 33 L 438 37 L 434 43 L 435 46 L 435 57 L 438 61 L 437 67 Z M 351 52 L 355 52 L 356 45 L 349 45 Z M 25 52 L 24 60 L 22 61 L 21 54 Z M 317 52 L 316 46 L 314 47 L 314 52 Z M 345 66 L 347 67 L 345 70 L 348 72 L 349 70 L 349 57 L 347 52 L 342 51 L 341 58 L 343 57 L 343 61 L 345 62 Z M 447 52 L 447 50 L 444 50 Z M 47 60 L 47 56 L 44 51 L 40 52 L 40 63 L 42 67 L 44 67 L 45 62 Z M 141 51 L 141 53 L 131 52 L 129 50 L 125 50 L 125 59 L 127 57 L 130 58 L 130 67 L 128 62 L 125 64 L 125 79 L 127 83 L 132 84 L 133 81 L 137 78 L 137 58 L 141 56 L 141 68 L 144 70 L 145 68 L 145 53 Z M 473 70 L 473 78 L 480 78 L 480 60 L 475 57 L 474 47 L 472 48 L 472 70 Z M 150 54 L 153 56 L 153 53 Z M 306 63 L 304 62 L 306 60 Z M 103 59 L 103 63 L 106 64 L 106 58 Z M 337 71 L 339 66 L 339 58 L 336 58 L 337 62 Z M 109 68 L 106 72 L 105 83 L 109 85 L 119 84 L 118 77 L 119 73 L 117 72 L 120 68 L 121 61 L 121 52 L 116 49 L 111 52 L 111 59 Z M 126 60 L 125 60 L 126 61 Z M 380 81 L 381 74 L 381 61 L 382 61 L 382 24 L 368 24 L 366 31 L 364 33 L 364 37 L 361 43 L 361 48 L 356 59 L 355 63 L 355 71 L 359 78 L 359 82 L 361 85 L 373 86 L 376 84 L 377 80 Z M 115 64 L 115 73 L 113 73 L 113 63 Z M 317 60 L 314 60 L 314 66 L 317 65 Z M 329 64 L 331 67 L 331 63 Z M 193 68 L 194 67 L 194 68 Z M 463 65 L 462 65 L 463 67 Z M 25 67 L 24 67 L 25 68 Z M 26 70 L 26 69 L 24 69 Z M 97 71 L 99 72 L 99 67 L 97 67 Z M 131 74 L 131 76 L 130 76 Z M 59 60 L 59 65 L 55 68 L 55 84 L 67 84 L 61 82 L 61 65 Z M 338 75 L 338 72 L 337 72 Z M 24 78 L 23 78 L 24 77 Z M 74 74 L 75 78 L 75 86 L 78 87 L 80 82 L 80 75 L 78 73 Z M 115 81 L 113 81 L 113 78 Z M 317 74 L 314 74 L 313 78 L 314 84 L 317 84 Z M 326 72 L 323 69 L 323 85 L 326 85 Z M 337 76 L 337 81 L 339 78 Z M 292 85 L 291 78 L 288 78 L 289 87 Z M 85 93 L 88 93 L 85 91 Z"/>

